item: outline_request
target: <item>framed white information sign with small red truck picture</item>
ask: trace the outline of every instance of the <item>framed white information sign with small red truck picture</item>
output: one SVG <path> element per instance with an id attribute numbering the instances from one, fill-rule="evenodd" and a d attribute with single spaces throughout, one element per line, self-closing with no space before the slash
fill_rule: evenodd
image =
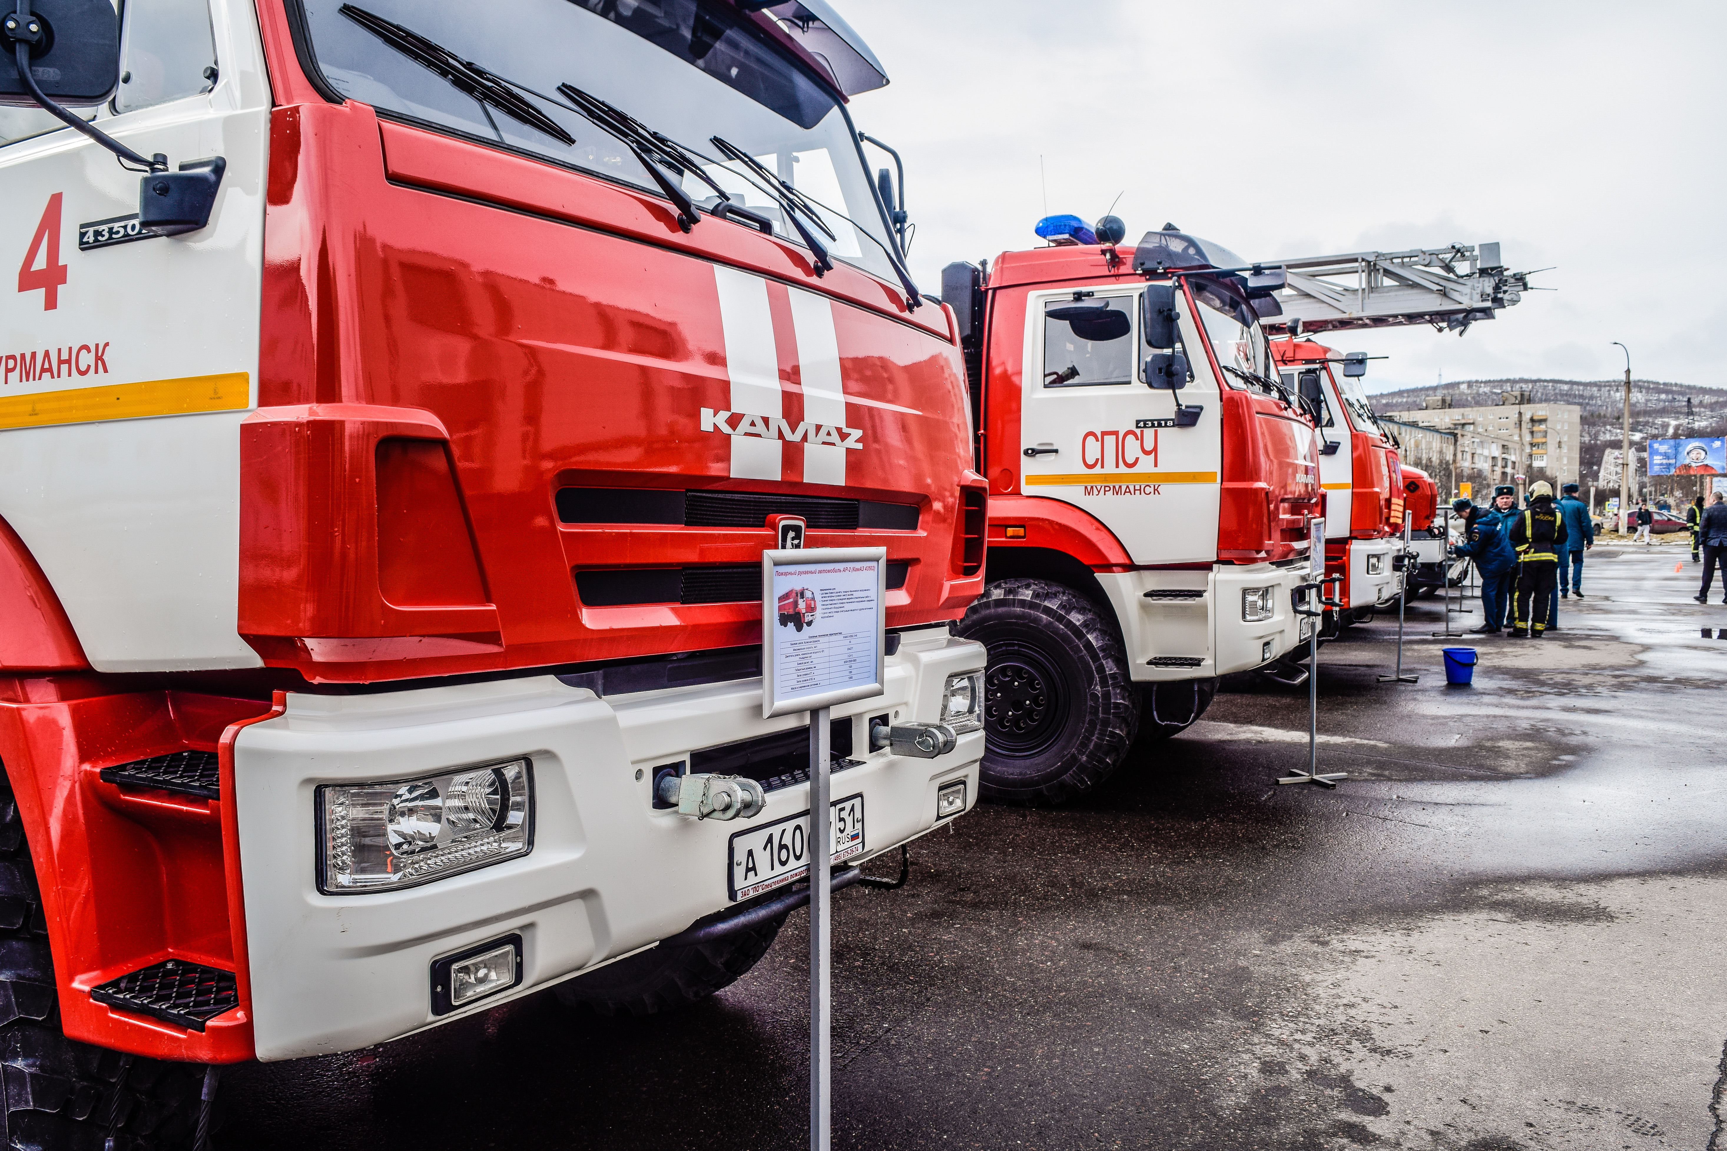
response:
<path id="1" fill-rule="evenodd" d="M 881 695 L 888 549 L 762 552 L 762 716 Z"/>

